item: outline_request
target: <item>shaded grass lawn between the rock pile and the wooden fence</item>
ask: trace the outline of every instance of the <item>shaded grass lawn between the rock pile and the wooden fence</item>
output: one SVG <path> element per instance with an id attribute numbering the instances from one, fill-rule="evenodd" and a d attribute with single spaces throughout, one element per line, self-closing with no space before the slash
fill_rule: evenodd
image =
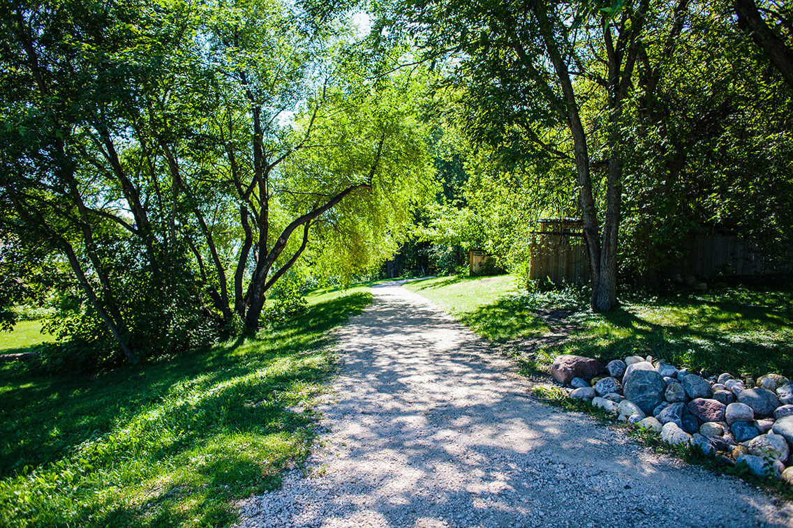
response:
<path id="1" fill-rule="evenodd" d="M 527 358 L 545 368 L 558 354 L 603 362 L 626 355 L 652 355 L 708 373 L 757 377 L 769 372 L 793 377 L 793 285 L 757 285 L 681 293 L 669 297 L 621 297 L 607 314 L 593 313 L 573 290 L 520 292 L 507 275 L 416 281 L 421 293 L 480 335 L 496 342 L 548 330 L 538 309 L 569 309 L 571 339 L 540 347 Z"/>

